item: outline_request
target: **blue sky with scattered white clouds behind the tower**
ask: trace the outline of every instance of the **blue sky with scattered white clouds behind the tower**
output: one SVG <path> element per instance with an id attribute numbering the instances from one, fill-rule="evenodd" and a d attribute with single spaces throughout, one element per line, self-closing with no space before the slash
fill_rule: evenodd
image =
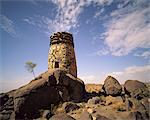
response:
<path id="1" fill-rule="evenodd" d="M 50 35 L 73 34 L 78 77 L 150 82 L 149 0 L 0 0 L 0 92 L 47 71 Z"/>

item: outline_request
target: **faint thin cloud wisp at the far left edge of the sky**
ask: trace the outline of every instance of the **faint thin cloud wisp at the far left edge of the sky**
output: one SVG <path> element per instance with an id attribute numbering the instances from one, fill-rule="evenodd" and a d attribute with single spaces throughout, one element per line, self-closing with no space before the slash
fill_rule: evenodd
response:
<path id="1" fill-rule="evenodd" d="M 11 36 L 16 36 L 14 22 L 5 15 L 0 15 L 0 18 L 0 27 Z"/>

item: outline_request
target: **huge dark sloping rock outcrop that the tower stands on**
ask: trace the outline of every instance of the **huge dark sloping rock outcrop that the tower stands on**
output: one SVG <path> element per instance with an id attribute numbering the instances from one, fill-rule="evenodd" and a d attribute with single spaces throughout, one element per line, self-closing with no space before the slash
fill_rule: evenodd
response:
<path id="1" fill-rule="evenodd" d="M 47 71 L 29 84 L 2 94 L 0 116 L 10 119 L 13 114 L 12 117 L 16 119 L 36 118 L 39 117 L 39 109 L 50 108 L 52 104 L 56 105 L 60 101 L 79 102 L 84 94 L 85 86 L 80 79 L 61 69 Z M 8 111 L 8 107 L 12 111 Z M 9 114 L 5 116 L 4 111 Z"/>

